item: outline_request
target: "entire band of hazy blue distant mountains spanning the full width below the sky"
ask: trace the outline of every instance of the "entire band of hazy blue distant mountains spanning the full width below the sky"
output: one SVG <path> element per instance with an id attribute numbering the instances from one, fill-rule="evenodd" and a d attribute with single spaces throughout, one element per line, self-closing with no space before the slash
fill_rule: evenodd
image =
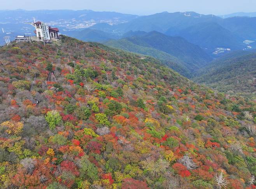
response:
<path id="1" fill-rule="evenodd" d="M 5 29 L 5 33 L 10 33 L 8 35 L 12 39 L 18 34 L 32 34 L 33 27 L 23 22 L 32 22 L 33 17 L 59 27 L 60 33 L 86 41 L 101 42 L 122 38 L 124 33 L 131 30 L 158 31 L 169 36 L 181 36 L 190 43 L 199 45 L 212 57 L 216 56 L 216 48 L 242 50 L 248 48 L 243 41 L 256 40 L 256 17 L 223 19 L 196 12 L 162 12 L 138 16 L 92 10 L 0 10 L 0 27 Z M 96 31 L 86 29 L 88 27 Z M 0 37 L 4 35 L 6 34 L 1 34 Z"/>

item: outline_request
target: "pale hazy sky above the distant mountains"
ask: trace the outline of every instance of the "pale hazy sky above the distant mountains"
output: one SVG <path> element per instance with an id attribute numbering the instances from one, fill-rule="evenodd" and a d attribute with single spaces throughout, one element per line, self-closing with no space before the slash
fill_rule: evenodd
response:
<path id="1" fill-rule="evenodd" d="M 0 0 L 0 9 L 91 9 L 139 15 L 195 11 L 220 15 L 256 12 L 256 0 Z"/>

